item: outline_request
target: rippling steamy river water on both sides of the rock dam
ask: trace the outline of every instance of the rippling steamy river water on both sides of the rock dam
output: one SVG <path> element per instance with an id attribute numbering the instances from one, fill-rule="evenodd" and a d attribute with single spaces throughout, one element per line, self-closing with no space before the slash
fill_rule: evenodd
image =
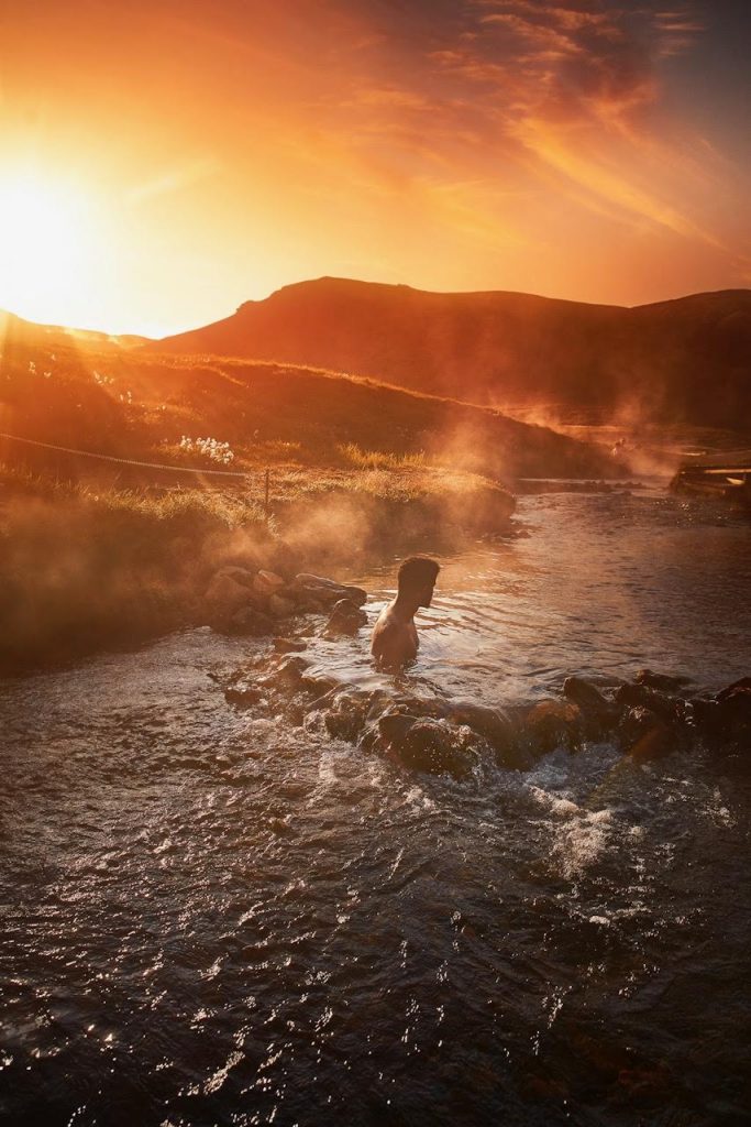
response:
<path id="1" fill-rule="evenodd" d="M 442 558 L 413 687 L 751 674 L 748 520 L 655 488 L 519 521 Z M 349 577 L 370 613 L 393 571 Z M 599 744 L 411 774 L 230 707 L 209 674 L 261 648 L 0 683 L 3 1121 L 751 1122 L 751 772 Z M 358 683 L 366 648 L 311 644 Z"/>

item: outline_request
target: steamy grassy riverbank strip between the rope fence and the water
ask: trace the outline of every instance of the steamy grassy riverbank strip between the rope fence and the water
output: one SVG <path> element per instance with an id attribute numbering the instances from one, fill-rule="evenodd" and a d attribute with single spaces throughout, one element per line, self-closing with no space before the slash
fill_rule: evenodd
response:
<path id="1" fill-rule="evenodd" d="M 446 548 L 508 534 L 515 507 L 488 478 L 399 463 L 279 468 L 268 511 L 250 491 L 53 487 L 20 476 L 6 478 L 2 497 L 5 674 L 203 624 L 222 568 L 290 579 L 426 540 Z"/>

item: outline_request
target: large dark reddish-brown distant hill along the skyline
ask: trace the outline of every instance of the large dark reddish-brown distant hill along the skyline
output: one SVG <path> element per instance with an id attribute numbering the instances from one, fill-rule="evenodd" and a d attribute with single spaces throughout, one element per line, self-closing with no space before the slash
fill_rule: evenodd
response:
<path id="1" fill-rule="evenodd" d="M 160 350 L 310 364 L 551 419 L 748 425 L 751 291 L 626 309 L 320 278 L 167 337 Z"/>

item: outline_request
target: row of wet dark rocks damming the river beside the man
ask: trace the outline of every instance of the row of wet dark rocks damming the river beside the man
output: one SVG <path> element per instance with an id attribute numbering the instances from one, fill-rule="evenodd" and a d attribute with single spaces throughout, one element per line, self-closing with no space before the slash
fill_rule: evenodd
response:
<path id="1" fill-rule="evenodd" d="M 331 736 L 417 771 L 462 778 L 488 756 L 498 766 L 524 771 L 558 747 L 574 753 L 598 740 L 615 744 L 636 763 L 697 740 L 743 762 L 751 743 L 749 677 L 713 696 L 694 698 L 679 692 L 680 678 L 649 669 L 607 692 L 567 677 L 560 698 L 506 709 L 396 687 L 357 687 L 313 666 L 299 644 L 280 639 L 275 649 L 225 687 L 231 703 L 283 713 L 292 724 L 315 716 Z"/>

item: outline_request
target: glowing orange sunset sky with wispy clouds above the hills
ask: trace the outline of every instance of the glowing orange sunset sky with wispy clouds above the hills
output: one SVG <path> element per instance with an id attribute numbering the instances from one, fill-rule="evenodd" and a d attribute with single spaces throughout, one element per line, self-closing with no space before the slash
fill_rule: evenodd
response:
<path id="1" fill-rule="evenodd" d="M 749 0 L 0 15 L 0 308 L 163 335 L 290 282 L 751 285 Z"/>

